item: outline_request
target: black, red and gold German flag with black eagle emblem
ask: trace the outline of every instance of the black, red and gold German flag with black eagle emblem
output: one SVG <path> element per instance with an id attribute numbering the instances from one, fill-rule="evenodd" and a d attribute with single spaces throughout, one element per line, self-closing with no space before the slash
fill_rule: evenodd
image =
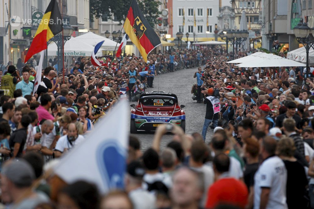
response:
<path id="1" fill-rule="evenodd" d="M 145 62 L 147 62 L 149 52 L 160 45 L 161 42 L 139 9 L 136 0 L 133 0 L 131 3 L 123 28 L 133 44 L 138 48 Z"/>

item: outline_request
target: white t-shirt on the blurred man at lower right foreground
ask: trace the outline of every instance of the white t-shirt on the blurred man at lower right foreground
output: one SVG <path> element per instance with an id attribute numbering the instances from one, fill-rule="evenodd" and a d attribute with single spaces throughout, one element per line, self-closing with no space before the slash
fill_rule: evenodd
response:
<path id="1" fill-rule="evenodd" d="M 270 188 L 266 209 L 287 209 L 286 185 L 284 162 L 278 156 L 264 160 L 254 176 L 254 209 L 260 206 L 262 187 Z"/>

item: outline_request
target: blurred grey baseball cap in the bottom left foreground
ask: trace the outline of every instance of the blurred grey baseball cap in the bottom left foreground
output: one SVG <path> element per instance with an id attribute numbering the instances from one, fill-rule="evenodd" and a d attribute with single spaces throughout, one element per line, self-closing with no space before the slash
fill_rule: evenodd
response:
<path id="1" fill-rule="evenodd" d="M 1 173 L 20 187 L 28 187 L 35 180 L 34 169 L 24 159 L 17 158 L 4 164 Z"/>

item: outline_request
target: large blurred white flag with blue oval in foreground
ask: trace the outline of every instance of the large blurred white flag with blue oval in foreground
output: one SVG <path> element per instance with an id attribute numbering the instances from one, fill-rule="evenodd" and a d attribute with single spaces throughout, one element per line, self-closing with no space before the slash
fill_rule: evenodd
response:
<path id="1" fill-rule="evenodd" d="M 60 160 L 54 171 L 70 184 L 93 182 L 101 193 L 124 188 L 128 147 L 127 103 L 121 101 L 77 147 Z"/>

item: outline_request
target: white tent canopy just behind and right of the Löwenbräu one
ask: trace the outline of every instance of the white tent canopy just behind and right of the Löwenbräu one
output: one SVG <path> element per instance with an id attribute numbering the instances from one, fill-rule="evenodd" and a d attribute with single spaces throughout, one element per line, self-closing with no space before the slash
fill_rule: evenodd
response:
<path id="1" fill-rule="evenodd" d="M 100 41 L 104 41 L 104 43 L 101 45 L 101 49 L 103 50 L 107 50 L 107 51 L 113 51 L 118 49 L 118 47 L 120 46 L 120 44 L 113 40 L 107 39 L 106 37 L 94 34 L 93 32 L 87 32 L 83 35 L 79 35 L 75 38 L 73 38 L 75 40 L 80 40 L 85 42 L 86 44 L 95 46 L 97 43 L 99 43 Z"/>

